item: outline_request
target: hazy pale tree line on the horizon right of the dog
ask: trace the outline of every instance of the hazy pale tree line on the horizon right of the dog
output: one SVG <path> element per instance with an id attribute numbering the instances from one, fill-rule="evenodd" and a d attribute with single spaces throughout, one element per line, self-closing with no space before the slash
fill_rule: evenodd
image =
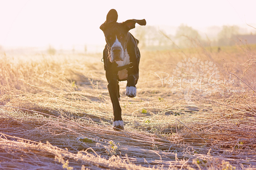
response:
<path id="1" fill-rule="evenodd" d="M 175 35 L 166 34 L 155 26 L 137 27 L 134 35 L 140 40 L 140 48 L 161 49 L 168 48 L 193 48 L 198 46 L 225 46 L 234 45 L 234 36 L 239 34 L 239 27 L 236 25 L 224 25 L 215 39 L 203 39 L 192 27 L 181 24 L 176 29 Z M 207 37 L 207 36 L 206 36 Z"/>

